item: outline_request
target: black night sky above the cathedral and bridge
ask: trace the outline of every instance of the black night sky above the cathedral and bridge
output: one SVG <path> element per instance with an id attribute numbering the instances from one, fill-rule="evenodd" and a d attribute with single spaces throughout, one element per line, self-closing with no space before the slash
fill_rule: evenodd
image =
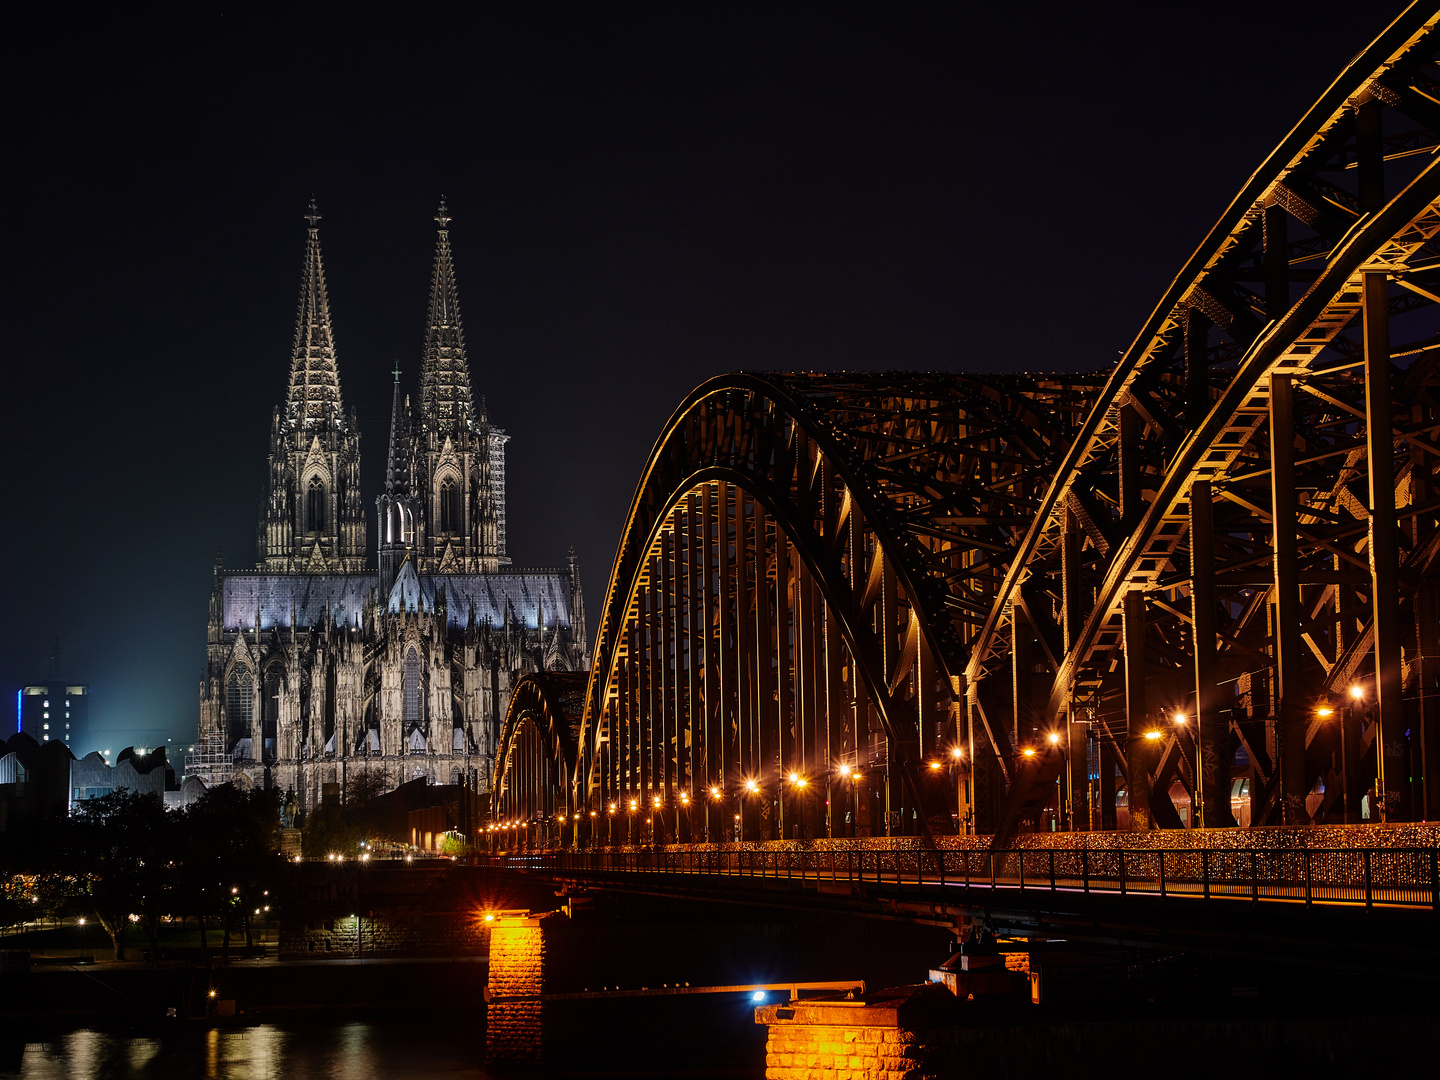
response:
<path id="1" fill-rule="evenodd" d="M 0 688 L 59 636 L 98 729 L 193 737 L 212 562 L 255 559 L 311 194 L 367 511 L 444 193 L 472 377 L 513 435 L 510 552 L 573 543 L 593 629 L 697 383 L 1106 367 L 1400 10 L 1045 7 L 9 13 Z"/>

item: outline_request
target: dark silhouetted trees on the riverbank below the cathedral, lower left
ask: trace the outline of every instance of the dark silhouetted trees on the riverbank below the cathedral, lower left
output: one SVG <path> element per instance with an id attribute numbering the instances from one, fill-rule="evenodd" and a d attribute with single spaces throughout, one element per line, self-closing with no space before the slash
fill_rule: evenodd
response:
<path id="1" fill-rule="evenodd" d="M 0 924 L 39 914 L 94 916 L 125 959 L 144 933 L 151 956 L 166 919 L 196 919 L 202 948 L 219 932 L 251 943 L 256 907 L 276 894 L 279 792 L 225 785 L 179 811 L 154 795 L 117 791 L 69 816 L 14 829 L 0 851 Z M 264 903 L 262 903 L 264 901 Z"/>

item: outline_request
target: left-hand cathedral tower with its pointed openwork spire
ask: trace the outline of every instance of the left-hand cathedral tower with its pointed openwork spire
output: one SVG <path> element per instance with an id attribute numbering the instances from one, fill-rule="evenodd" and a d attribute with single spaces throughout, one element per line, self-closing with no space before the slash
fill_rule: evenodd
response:
<path id="1" fill-rule="evenodd" d="M 285 403 L 271 419 L 269 492 L 261 508 L 259 567 L 359 573 L 364 567 L 360 433 L 340 399 L 336 337 L 310 200 L 305 269 Z"/>

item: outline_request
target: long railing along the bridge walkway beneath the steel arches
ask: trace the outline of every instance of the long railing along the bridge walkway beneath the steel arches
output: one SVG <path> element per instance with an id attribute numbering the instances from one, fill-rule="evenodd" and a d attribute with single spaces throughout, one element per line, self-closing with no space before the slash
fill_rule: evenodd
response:
<path id="1" fill-rule="evenodd" d="M 577 876 L 746 877 L 917 894 L 1064 891 L 1440 912 L 1436 848 L 636 848 L 514 854 L 492 861 Z"/>

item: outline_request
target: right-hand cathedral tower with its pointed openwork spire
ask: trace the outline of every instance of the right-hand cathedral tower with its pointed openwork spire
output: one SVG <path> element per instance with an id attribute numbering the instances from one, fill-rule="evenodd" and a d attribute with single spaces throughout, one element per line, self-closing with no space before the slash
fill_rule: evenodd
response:
<path id="1" fill-rule="evenodd" d="M 420 363 L 415 495 L 422 573 L 494 573 L 504 557 L 504 445 L 508 436 L 477 413 L 465 359 L 459 294 L 444 200 Z"/>

